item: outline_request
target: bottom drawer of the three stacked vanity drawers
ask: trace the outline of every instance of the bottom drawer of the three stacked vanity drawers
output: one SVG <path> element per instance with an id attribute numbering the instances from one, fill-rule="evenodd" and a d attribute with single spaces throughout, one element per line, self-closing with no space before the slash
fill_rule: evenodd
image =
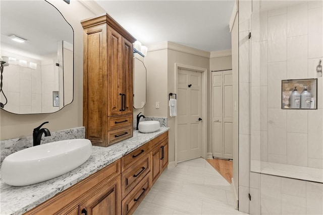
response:
<path id="1" fill-rule="evenodd" d="M 149 192 L 149 174 L 127 195 L 122 201 L 122 214 L 132 214 L 138 207 L 142 199 Z"/>

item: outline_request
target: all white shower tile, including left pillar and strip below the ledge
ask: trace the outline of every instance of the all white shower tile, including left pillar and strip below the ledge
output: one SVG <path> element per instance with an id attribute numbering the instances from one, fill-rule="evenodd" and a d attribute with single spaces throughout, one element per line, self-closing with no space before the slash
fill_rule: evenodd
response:
<path id="1" fill-rule="evenodd" d="M 323 184 L 251 173 L 249 164 L 252 157 L 322 168 L 321 78 L 318 110 L 281 109 L 281 80 L 316 78 L 323 57 L 322 1 L 260 16 L 257 10 L 259 1 L 239 1 L 239 210 L 323 214 Z"/>

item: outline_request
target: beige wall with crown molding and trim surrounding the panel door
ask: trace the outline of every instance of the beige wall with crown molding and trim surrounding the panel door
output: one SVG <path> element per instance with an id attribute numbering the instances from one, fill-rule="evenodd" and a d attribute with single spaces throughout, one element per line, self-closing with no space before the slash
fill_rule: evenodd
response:
<path id="1" fill-rule="evenodd" d="M 158 48 L 156 48 L 158 47 Z M 145 57 L 147 67 L 147 105 L 146 116 L 168 117 L 169 161 L 175 161 L 175 117 L 169 116 L 168 94 L 175 93 L 175 63 L 207 69 L 207 118 L 210 113 L 210 70 L 231 69 L 231 56 L 209 58 L 209 53 L 163 42 L 149 47 L 151 51 Z M 160 108 L 155 108 L 155 102 Z M 209 122 L 208 122 L 209 124 Z M 208 126 L 209 127 L 209 126 Z M 207 152 L 212 151 L 211 130 L 207 129 Z"/>

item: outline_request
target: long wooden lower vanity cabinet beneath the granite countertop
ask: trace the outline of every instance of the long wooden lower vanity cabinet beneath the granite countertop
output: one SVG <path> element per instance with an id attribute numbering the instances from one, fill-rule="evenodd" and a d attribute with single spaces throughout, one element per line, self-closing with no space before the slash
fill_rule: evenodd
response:
<path id="1" fill-rule="evenodd" d="M 25 215 L 131 215 L 167 165 L 168 131 Z"/>

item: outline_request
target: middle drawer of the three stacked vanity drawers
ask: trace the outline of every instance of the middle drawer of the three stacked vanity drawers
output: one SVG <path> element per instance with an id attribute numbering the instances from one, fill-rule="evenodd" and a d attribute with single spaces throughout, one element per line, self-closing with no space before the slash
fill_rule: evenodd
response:
<path id="1" fill-rule="evenodd" d="M 126 197 L 129 192 L 140 182 L 140 180 L 150 172 L 150 156 L 149 153 L 135 162 L 133 166 L 128 168 L 121 176 L 121 193 L 122 198 Z"/>

